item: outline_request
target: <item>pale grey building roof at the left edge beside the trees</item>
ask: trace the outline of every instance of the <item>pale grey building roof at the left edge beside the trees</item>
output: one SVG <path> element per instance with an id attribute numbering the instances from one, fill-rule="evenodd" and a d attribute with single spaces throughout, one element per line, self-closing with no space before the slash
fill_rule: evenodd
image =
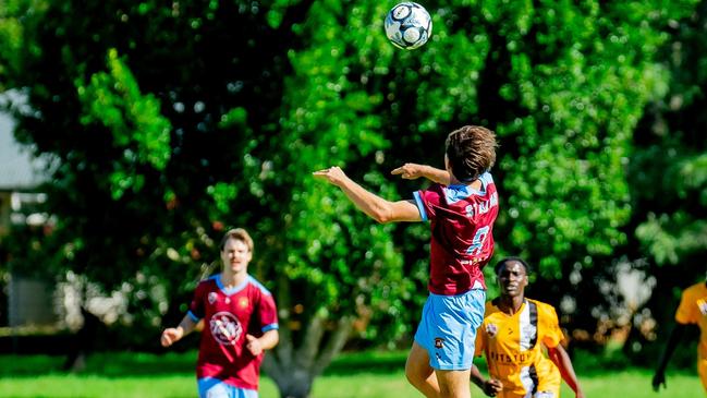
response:
<path id="1" fill-rule="evenodd" d="M 14 140 L 12 129 L 12 119 L 0 112 L 0 191 L 31 190 L 45 180 L 45 162 Z"/>

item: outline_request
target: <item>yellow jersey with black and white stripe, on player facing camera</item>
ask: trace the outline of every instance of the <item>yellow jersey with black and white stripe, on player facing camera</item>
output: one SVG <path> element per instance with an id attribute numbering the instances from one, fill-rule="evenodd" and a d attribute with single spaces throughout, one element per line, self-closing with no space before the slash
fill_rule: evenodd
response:
<path id="1" fill-rule="evenodd" d="M 498 397 L 559 397 L 560 371 L 543 349 L 563 339 L 554 309 L 525 299 L 519 312 L 509 315 L 499 310 L 497 300 L 486 303 L 475 353 L 486 357 L 491 377 L 503 383 Z"/>

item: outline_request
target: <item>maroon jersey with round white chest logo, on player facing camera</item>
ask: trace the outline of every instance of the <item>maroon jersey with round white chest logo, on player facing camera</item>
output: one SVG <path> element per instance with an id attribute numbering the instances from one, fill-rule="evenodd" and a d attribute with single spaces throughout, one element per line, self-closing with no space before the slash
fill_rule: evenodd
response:
<path id="1" fill-rule="evenodd" d="M 196 287 L 188 315 L 194 322 L 204 319 L 196 377 L 257 390 L 263 353 L 251 354 L 245 335 L 260 337 L 278 328 L 272 294 L 251 276 L 241 286 L 224 289 L 217 275 Z"/>

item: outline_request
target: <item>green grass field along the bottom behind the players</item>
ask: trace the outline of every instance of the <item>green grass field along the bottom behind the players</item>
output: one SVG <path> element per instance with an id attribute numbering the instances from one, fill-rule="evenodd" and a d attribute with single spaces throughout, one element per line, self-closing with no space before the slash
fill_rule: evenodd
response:
<path id="1" fill-rule="evenodd" d="M 195 397 L 195 352 L 154 355 L 101 353 L 90 355 L 86 370 L 65 374 L 63 358 L 46 355 L 0 357 L 0 397 L 42 398 L 181 398 Z M 341 355 L 315 381 L 313 398 L 419 397 L 403 374 L 404 352 L 364 352 Z M 577 364 L 575 364 L 577 365 Z M 576 366 L 587 398 L 704 398 L 694 373 L 668 374 L 668 389 L 650 389 L 648 370 L 601 372 Z M 484 394 L 472 386 L 474 398 Z M 562 396 L 574 397 L 566 386 Z M 261 398 L 277 398 L 275 383 L 263 377 Z"/>

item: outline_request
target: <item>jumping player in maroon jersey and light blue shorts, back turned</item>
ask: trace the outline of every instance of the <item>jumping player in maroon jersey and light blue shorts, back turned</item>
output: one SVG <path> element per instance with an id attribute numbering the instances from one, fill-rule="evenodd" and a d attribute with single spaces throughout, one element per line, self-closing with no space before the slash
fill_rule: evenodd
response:
<path id="1" fill-rule="evenodd" d="M 430 294 L 405 364 L 407 379 L 427 397 L 471 395 L 474 337 L 486 300 L 482 267 L 493 252 L 491 230 L 498 214 L 488 171 L 496 147 L 496 135 L 486 128 L 467 125 L 452 132 L 446 142 L 446 170 L 405 164 L 392 171 L 404 179 L 436 182 L 410 201 L 383 200 L 339 167 L 314 172 L 378 222 L 430 221 Z"/>

